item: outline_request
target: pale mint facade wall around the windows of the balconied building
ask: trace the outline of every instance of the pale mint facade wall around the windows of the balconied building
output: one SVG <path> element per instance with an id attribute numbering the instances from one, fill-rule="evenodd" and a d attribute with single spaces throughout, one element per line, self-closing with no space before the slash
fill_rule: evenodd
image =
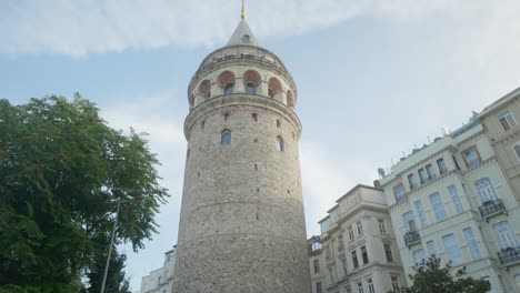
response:
<path id="1" fill-rule="evenodd" d="M 468 168 L 464 162 L 464 150 L 474 146 L 480 154 L 480 163 L 477 166 Z M 437 165 L 437 160 L 444 159 L 448 172 L 440 175 L 440 169 Z M 460 168 L 457 169 L 456 162 Z M 420 183 L 418 170 L 432 164 L 434 166 L 437 178 Z M 411 190 L 408 182 L 408 175 L 413 173 L 419 186 Z M 489 178 L 494 186 L 497 195 L 503 201 L 506 210 L 493 214 L 489 218 L 483 218 L 480 214 L 479 206 L 482 206 L 478 191 L 474 188 L 474 182 Z M 501 221 L 508 221 L 514 230 L 518 239 L 520 231 L 520 213 L 514 200 L 513 193 L 508 185 L 508 182 L 501 172 L 497 162 L 496 154 L 487 137 L 483 135 L 482 127 L 476 123 L 473 128 L 468 128 L 466 132 L 459 135 L 448 135 L 438 142 L 420 150 L 416 154 L 401 161 L 393 166 L 392 173 L 386 176 L 381 184 L 384 188 L 387 201 L 390 203 L 390 215 L 392 224 L 396 229 L 398 246 L 401 253 L 404 271 L 408 274 L 413 273 L 411 266 L 414 264 L 413 252 L 420 249 L 424 250 L 426 256 L 429 256 L 427 242 L 433 241 L 437 253 L 441 259 L 442 264 L 449 260 L 449 255 L 444 247 L 443 238 L 453 234 L 459 251 L 462 255 L 462 262 L 453 265 L 454 269 L 467 266 L 469 275 L 473 277 L 489 277 L 494 292 L 516 292 L 513 284 L 513 274 L 510 271 L 518 272 L 518 264 L 502 265 L 498 257 L 500 247 L 497 245 L 497 240 L 492 231 L 492 226 Z M 397 202 L 394 188 L 402 184 L 406 189 L 406 200 Z M 454 185 L 458 190 L 462 212 L 457 212 L 452 196 L 448 186 Z M 430 195 L 439 192 L 442 199 L 443 206 L 448 216 L 437 221 L 434 209 L 430 202 Z M 421 225 L 418 209 L 414 202 L 421 201 L 427 218 L 427 225 Z M 412 245 L 406 245 L 403 235 L 406 233 L 406 223 L 403 214 L 412 211 L 414 215 L 416 226 L 420 234 L 420 241 Z M 471 254 L 471 247 L 467 243 L 464 229 L 471 228 L 473 235 L 480 247 L 481 257 L 474 259 Z M 508 269 L 508 270 L 506 270 Z"/>

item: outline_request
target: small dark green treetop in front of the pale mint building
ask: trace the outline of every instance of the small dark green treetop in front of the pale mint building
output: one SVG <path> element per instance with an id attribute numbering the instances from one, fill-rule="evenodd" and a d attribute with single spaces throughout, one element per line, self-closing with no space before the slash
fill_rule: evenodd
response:
<path id="1" fill-rule="evenodd" d="M 388 293 L 486 293 L 491 285 L 486 280 L 477 280 L 466 276 L 466 266 L 451 274 L 452 266 L 449 262 L 444 267 L 440 265 L 440 259 L 430 257 L 421 264 L 413 266 L 416 272 L 410 274 L 412 285 Z"/>

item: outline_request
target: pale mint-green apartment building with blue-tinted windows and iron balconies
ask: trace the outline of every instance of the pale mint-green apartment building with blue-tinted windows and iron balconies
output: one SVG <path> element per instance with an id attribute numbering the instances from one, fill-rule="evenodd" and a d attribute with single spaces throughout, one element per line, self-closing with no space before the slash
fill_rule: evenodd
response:
<path id="1" fill-rule="evenodd" d="M 434 255 L 519 292 L 520 213 L 480 119 L 402 158 L 381 180 L 406 274 Z"/>

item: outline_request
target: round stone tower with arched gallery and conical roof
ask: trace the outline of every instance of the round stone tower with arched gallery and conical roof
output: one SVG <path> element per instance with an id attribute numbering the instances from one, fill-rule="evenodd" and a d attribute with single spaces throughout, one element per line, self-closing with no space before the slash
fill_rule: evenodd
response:
<path id="1" fill-rule="evenodd" d="M 310 292 L 297 89 L 243 12 L 188 97 L 173 292 Z"/>

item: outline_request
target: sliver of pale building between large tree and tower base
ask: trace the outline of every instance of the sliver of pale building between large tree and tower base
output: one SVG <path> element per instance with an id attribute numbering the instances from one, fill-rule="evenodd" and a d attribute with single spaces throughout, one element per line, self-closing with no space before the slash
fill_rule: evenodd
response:
<path id="1" fill-rule="evenodd" d="M 141 293 L 173 293 L 176 246 L 164 253 L 162 267 L 153 270 L 141 280 Z"/>

